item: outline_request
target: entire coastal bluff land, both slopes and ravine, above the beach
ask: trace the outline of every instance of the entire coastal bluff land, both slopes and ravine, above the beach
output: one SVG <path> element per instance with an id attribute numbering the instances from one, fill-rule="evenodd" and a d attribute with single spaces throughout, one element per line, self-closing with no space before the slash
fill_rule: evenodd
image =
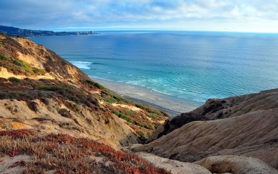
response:
<path id="1" fill-rule="evenodd" d="M 0 173 L 278 174 L 278 89 L 169 117 L 0 34 Z"/>

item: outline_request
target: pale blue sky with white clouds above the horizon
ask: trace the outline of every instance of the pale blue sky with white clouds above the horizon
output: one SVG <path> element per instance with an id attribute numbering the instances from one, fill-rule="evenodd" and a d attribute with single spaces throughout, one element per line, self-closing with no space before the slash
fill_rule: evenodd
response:
<path id="1" fill-rule="evenodd" d="M 0 0 L 0 25 L 278 33 L 278 0 Z"/>

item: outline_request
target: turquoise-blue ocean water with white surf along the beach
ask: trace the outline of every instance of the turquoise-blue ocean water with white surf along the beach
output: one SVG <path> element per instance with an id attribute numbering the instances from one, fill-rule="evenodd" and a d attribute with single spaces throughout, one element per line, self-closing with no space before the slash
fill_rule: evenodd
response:
<path id="1" fill-rule="evenodd" d="M 204 103 L 278 88 L 278 35 L 100 32 L 30 38 L 89 76 Z"/>

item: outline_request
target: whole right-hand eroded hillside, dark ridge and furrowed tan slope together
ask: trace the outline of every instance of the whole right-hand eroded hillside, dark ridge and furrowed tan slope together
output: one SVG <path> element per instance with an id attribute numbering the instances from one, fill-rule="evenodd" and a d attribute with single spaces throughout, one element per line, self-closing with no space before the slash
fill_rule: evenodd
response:
<path id="1" fill-rule="evenodd" d="M 134 150 L 196 162 L 210 172 L 221 166 L 225 168 L 223 173 L 237 171 L 235 166 L 242 163 L 242 156 L 260 159 L 278 169 L 277 113 L 278 89 L 209 99 L 200 108 L 165 121 L 146 141 L 148 144 Z"/>

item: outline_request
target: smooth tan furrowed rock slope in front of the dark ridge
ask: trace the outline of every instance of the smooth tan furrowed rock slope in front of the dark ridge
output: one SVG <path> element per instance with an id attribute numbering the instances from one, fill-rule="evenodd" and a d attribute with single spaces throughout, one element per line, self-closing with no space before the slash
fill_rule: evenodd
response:
<path id="1" fill-rule="evenodd" d="M 240 155 L 258 158 L 278 169 L 278 109 L 241 116 L 194 121 L 135 151 L 195 162 L 208 156 Z"/>

